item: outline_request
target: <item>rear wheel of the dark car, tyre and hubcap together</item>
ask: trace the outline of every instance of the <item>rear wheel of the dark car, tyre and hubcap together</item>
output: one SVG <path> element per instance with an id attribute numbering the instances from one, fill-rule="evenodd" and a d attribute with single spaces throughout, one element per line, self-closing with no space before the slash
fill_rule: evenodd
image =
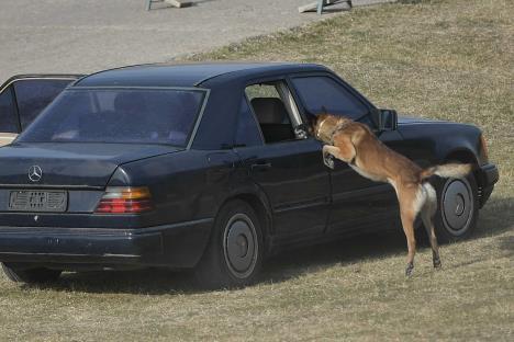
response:
<path id="1" fill-rule="evenodd" d="M 195 267 L 201 287 L 233 288 L 252 284 L 262 264 L 260 221 L 246 202 L 226 203 L 214 221 L 208 248 Z"/>

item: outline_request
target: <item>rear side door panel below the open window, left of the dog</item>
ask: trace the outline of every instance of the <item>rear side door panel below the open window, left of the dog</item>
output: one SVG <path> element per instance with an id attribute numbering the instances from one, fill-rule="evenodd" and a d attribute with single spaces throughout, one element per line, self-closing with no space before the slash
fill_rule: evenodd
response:
<path id="1" fill-rule="evenodd" d="M 237 149 L 255 183 L 268 196 L 277 235 L 322 233 L 329 205 L 328 171 L 314 139 Z"/>

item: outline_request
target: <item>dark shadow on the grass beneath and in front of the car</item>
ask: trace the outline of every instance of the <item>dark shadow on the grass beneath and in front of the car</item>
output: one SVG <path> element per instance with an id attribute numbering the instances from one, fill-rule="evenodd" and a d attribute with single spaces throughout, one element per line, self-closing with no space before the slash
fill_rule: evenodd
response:
<path id="1" fill-rule="evenodd" d="M 514 227 L 514 213 L 509 210 L 512 198 L 491 198 L 481 210 L 477 232 L 471 239 L 501 235 Z M 425 232 L 416 232 L 423 240 Z M 420 243 L 426 248 L 427 243 Z M 500 247 L 514 255 L 514 237 L 504 237 Z M 334 242 L 281 252 L 265 263 L 260 283 L 283 282 L 302 274 L 323 270 L 340 263 L 351 264 L 364 259 L 382 259 L 393 254 L 406 255 L 406 242 L 401 227 L 394 231 L 366 233 Z M 402 269 L 403 264 L 399 264 Z M 401 272 L 399 269 L 399 272 Z M 30 289 L 33 286 L 22 285 Z M 37 288 L 86 292 L 120 293 L 135 295 L 174 295 L 206 292 L 194 282 L 191 272 L 171 272 L 166 270 L 144 271 L 103 271 L 65 273 L 52 285 L 38 285 Z"/>

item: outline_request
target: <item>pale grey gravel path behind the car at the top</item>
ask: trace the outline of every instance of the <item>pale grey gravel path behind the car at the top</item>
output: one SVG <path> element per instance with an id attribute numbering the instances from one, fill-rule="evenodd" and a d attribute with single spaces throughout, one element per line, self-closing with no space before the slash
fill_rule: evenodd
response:
<path id="1" fill-rule="evenodd" d="M 312 0 L 192 0 L 145 11 L 146 0 L 16 0 L 0 4 L 0 83 L 24 72 L 92 72 L 212 49 L 334 14 Z M 387 0 L 354 0 L 355 4 Z"/>

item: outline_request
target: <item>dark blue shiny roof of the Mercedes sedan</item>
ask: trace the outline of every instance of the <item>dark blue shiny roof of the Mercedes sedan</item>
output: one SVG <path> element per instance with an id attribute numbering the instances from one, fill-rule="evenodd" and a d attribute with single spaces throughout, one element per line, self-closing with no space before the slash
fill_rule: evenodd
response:
<path id="1" fill-rule="evenodd" d="M 322 70 L 327 69 L 315 64 L 291 62 L 152 64 L 92 73 L 77 81 L 74 87 L 198 87 L 220 76 L 228 76 L 233 80 L 273 71 Z"/>

